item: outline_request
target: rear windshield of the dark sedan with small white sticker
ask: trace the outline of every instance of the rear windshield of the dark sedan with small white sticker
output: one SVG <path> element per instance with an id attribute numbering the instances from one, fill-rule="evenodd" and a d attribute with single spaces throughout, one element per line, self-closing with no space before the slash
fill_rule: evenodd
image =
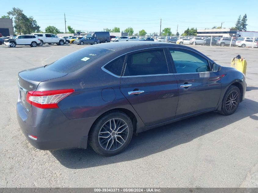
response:
<path id="1" fill-rule="evenodd" d="M 49 70 L 61 73 L 71 73 L 87 66 L 96 59 L 112 52 L 104 48 L 87 47 L 73 52 L 56 62 L 45 66 Z"/>

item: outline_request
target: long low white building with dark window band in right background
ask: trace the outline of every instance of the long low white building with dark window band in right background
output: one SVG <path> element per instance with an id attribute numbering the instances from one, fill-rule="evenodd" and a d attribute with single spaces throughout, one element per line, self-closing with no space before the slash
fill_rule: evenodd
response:
<path id="1" fill-rule="evenodd" d="M 232 37 L 236 35 L 237 30 L 231 28 L 197 30 L 197 36 Z"/>

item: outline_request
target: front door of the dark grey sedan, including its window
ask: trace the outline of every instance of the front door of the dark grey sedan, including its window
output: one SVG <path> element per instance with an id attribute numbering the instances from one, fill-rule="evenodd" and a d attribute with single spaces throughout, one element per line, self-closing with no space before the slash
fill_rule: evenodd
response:
<path id="1" fill-rule="evenodd" d="M 216 107 L 221 81 L 207 59 L 187 49 L 169 48 L 177 80 L 179 99 L 176 118 Z"/>

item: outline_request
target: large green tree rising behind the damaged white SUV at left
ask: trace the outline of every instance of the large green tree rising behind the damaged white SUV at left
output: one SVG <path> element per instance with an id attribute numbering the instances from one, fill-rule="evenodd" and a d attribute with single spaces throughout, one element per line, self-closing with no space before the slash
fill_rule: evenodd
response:
<path id="1" fill-rule="evenodd" d="M 40 27 L 38 26 L 37 21 L 34 20 L 32 16 L 27 17 L 22 9 L 14 7 L 13 10 L 7 12 L 7 14 L 15 17 L 14 28 L 19 34 L 31 34 L 39 31 Z"/>

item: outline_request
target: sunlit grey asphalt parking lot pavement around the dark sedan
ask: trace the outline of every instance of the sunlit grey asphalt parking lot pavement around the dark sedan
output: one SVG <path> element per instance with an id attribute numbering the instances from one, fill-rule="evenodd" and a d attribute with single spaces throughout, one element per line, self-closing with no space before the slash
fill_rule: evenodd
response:
<path id="1" fill-rule="evenodd" d="M 140 133 L 113 157 L 89 146 L 33 148 L 16 120 L 17 73 L 82 47 L 0 46 L 0 187 L 258 187 L 258 49 L 191 46 L 224 66 L 245 56 L 246 99 L 231 116 L 211 112 Z"/>

